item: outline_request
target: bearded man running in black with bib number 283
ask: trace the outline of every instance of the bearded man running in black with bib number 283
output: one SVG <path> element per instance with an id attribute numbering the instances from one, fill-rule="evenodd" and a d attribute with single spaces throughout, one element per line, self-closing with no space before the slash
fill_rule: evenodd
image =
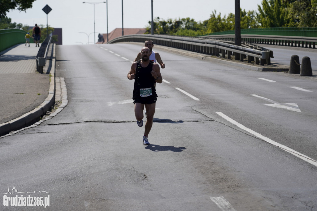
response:
<path id="1" fill-rule="evenodd" d="M 155 103 L 157 94 L 154 82 L 162 83 L 162 75 L 159 71 L 159 65 L 150 60 L 151 51 L 148 47 L 141 49 L 141 59 L 133 62 L 127 75 L 129 80 L 134 79 L 133 103 L 134 114 L 139 127 L 143 125 L 143 110 L 147 112 L 143 144 L 149 145 L 147 139 L 152 128 L 153 117 L 155 113 Z"/>

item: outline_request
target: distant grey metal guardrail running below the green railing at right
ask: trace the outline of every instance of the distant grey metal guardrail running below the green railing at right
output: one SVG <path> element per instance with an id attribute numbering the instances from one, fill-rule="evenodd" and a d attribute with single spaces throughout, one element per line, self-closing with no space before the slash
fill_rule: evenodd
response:
<path id="1" fill-rule="evenodd" d="M 203 38 L 217 39 L 217 40 L 234 40 L 235 35 L 206 35 Z M 303 37 L 303 36 L 279 36 L 279 35 L 241 35 L 242 41 L 268 44 L 279 46 L 292 46 L 301 48 L 316 48 L 317 37 Z"/>

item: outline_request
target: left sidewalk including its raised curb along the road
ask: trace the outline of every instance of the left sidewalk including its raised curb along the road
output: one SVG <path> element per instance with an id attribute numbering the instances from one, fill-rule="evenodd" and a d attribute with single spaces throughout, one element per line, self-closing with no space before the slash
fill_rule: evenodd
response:
<path id="1" fill-rule="evenodd" d="M 47 60 L 39 74 L 38 50 L 31 43 L 30 47 L 19 44 L 0 52 L 0 136 L 35 123 L 55 102 L 55 56 L 52 54 L 53 61 Z"/>

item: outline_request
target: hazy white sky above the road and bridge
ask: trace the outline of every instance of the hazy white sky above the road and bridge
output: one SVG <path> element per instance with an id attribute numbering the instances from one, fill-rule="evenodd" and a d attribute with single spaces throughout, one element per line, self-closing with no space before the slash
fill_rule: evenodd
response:
<path id="1" fill-rule="evenodd" d="M 106 0 L 104 0 L 106 1 Z M 42 8 L 48 4 L 52 11 L 48 14 L 48 24 L 62 28 L 63 45 L 94 43 L 94 5 L 83 0 L 36 0 L 31 9 L 25 12 L 13 10 L 7 13 L 12 22 L 34 26 L 46 26 L 46 14 Z M 89 1 L 98 3 L 102 1 Z M 262 0 L 240 0 L 242 9 L 257 10 Z M 235 12 L 234 0 L 153 0 L 153 17 L 178 19 L 190 17 L 195 21 L 209 19 L 213 10 L 222 16 Z M 123 0 L 123 27 L 145 28 L 151 20 L 151 0 Z M 106 3 L 95 4 L 96 41 L 98 33 L 107 33 Z M 122 0 L 108 0 L 108 32 L 122 28 Z"/>

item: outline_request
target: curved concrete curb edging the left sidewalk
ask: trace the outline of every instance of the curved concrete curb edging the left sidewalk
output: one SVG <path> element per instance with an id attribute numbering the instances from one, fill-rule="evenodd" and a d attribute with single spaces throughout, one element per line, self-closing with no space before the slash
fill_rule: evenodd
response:
<path id="1" fill-rule="evenodd" d="M 50 70 L 50 85 L 49 85 L 49 94 L 44 102 L 39 105 L 37 108 L 32 111 L 22 115 L 21 117 L 15 118 L 9 122 L 0 124 L 0 136 L 4 136 L 11 131 L 20 130 L 24 127 L 33 125 L 40 118 L 46 114 L 47 111 L 55 104 L 55 55 L 56 55 L 56 46 L 53 45 L 53 58 L 52 58 L 52 67 Z"/>

